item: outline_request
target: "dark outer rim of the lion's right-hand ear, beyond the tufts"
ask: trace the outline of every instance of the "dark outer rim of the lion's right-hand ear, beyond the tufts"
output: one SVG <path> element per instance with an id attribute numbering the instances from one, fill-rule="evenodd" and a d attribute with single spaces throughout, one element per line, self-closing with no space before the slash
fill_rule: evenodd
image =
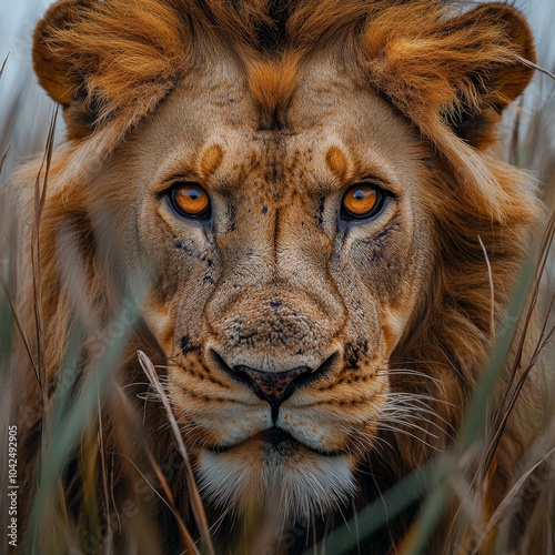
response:
<path id="1" fill-rule="evenodd" d="M 535 62 L 534 38 L 525 18 L 514 8 L 502 3 L 475 8 L 461 16 L 455 26 L 470 34 L 482 33 L 485 40 L 490 32 L 493 34 L 492 42 L 483 47 L 485 52 L 491 49 L 491 59 L 466 73 L 465 78 L 472 88 L 470 91 L 463 88 L 460 104 L 447 114 L 458 137 L 476 148 L 487 147 L 494 139 L 492 131 L 502 111 L 524 91 L 532 79 L 534 70 L 521 59 Z M 512 50 L 512 57 L 501 52 L 500 42 L 505 43 L 505 49 L 508 47 Z M 461 48 L 464 51 L 465 44 L 461 44 Z M 465 92 L 468 98 L 465 98 Z"/>

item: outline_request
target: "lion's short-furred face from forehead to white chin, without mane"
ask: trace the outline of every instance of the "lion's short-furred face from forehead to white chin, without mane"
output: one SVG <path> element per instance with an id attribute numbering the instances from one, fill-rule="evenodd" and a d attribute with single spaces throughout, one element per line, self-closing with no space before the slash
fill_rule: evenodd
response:
<path id="1" fill-rule="evenodd" d="M 225 71 L 178 88 L 113 157 L 134 199 L 120 218 L 129 264 L 154 271 L 144 317 L 202 490 L 306 515 L 353 492 L 395 403 L 389 357 L 431 268 L 426 150 L 316 64 L 261 129 Z"/>

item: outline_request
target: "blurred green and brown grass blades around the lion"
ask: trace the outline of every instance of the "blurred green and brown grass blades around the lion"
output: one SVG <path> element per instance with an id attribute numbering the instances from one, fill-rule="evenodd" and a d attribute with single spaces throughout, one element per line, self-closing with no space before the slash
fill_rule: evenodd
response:
<path id="1" fill-rule="evenodd" d="M 555 12 L 553 13 L 555 16 Z M 3 62 L 9 63 L 9 60 Z M 543 61 L 546 64 L 545 61 Z M 547 64 L 546 64 L 547 65 Z M 3 65 L 2 65 L 3 69 Z M 553 68 L 552 68 L 553 69 Z M 1 78 L 1 70 L 0 70 Z M 447 507 L 455 507 L 451 528 L 451 545 L 453 553 L 506 553 L 509 531 L 504 523 L 511 522 L 508 515 L 515 513 L 523 503 L 529 504 L 529 518 L 521 531 L 524 542 L 524 553 L 555 553 L 555 349 L 553 337 L 555 334 L 555 279 L 553 273 L 553 240 L 555 235 L 555 148 L 554 121 L 555 114 L 555 87 L 546 74 L 538 78 L 542 93 L 542 103 L 531 109 L 529 103 L 524 103 L 521 113 L 515 112 L 507 121 L 506 155 L 512 163 L 531 169 L 537 176 L 539 195 L 546 204 L 546 218 L 542 232 L 537 233 L 536 244 L 531 245 L 531 253 L 536 253 L 527 260 L 522 269 L 515 285 L 507 319 L 497 326 L 497 340 L 492 353 L 491 362 L 484 373 L 482 382 L 470 403 L 463 427 L 458 431 L 453 448 L 448 453 L 440 454 L 434 461 L 421 468 L 417 473 L 408 475 L 392 490 L 384 492 L 383 496 L 362 509 L 356 517 L 326 536 L 325 541 L 315 546 L 309 546 L 306 554 L 349 553 L 356 548 L 364 537 L 383 527 L 396 514 L 424 496 L 416 521 L 401 547 L 403 554 L 423 553 L 425 545 L 445 513 Z M 549 118 L 546 118 L 551 117 Z M 32 244 L 33 272 L 37 275 L 37 290 L 34 292 L 36 305 L 40 306 L 40 271 L 41 260 L 38 235 L 44 191 L 48 188 L 48 168 L 52 155 L 54 142 L 54 121 L 51 120 L 50 130 L 46 139 L 43 171 L 37 176 L 36 186 L 36 221 L 33 229 L 36 235 Z M 0 172 L 6 160 L 7 148 L 0 151 Z M 3 178 L 4 175 L 0 173 Z M 2 229 L 3 236 L 0 243 L 8 241 L 7 230 Z M 17 246 L 11 245 L 11 249 Z M 14 310 L 14 284 L 11 282 L 7 261 L 0 261 L 0 379 L 2 384 L 9 384 L 11 349 L 13 337 L 22 334 L 23 325 Z M 130 304 L 131 303 L 131 304 Z M 140 306 L 124 303 L 124 309 L 137 314 Z M 82 527 L 75 525 L 69 517 L 71 507 L 65 504 L 61 477 L 67 474 L 67 463 L 77 444 L 82 441 L 84 445 L 82 464 L 89 476 L 80 487 L 82 488 L 83 504 L 87 509 L 81 522 L 84 528 L 100 529 L 99 514 L 101 507 L 112 504 L 110 483 L 112 477 L 104 470 L 104 456 L 108 456 L 102 446 L 102 425 L 100 433 L 92 424 L 102 421 L 101 405 L 118 403 L 121 415 L 121 427 L 130 433 L 138 444 L 128 445 L 119 456 L 128 458 L 130 480 L 142 483 L 151 490 L 152 494 L 162 500 L 174 516 L 176 529 L 182 544 L 188 553 L 214 553 L 211 542 L 211 531 L 204 514 L 201 496 L 194 484 L 188 453 L 182 444 L 181 435 L 176 428 L 171 406 L 169 405 L 164 389 L 160 383 L 157 367 L 143 354 L 139 354 L 139 363 L 145 373 L 145 389 L 149 398 L 155 398 L 168 414 L 169 425 L 174 430 L 178 450 L 181 454 L 182 467 L 186 474 L 190 488 L 190 505 L 195 523 L 195 529 L 188 529 L 184 522 L 185 515 L 174 500 L 165 478 L 160 461 L 157 461 L 150 445 L 141 435 L 141 415 L 132 406 L 129 396 L 119 389 L 114 381 L 114 369 L 120 362 L 121 345 L 125 335 L 108 345 L 103 355 L 98 361 L 97 371 L 84 382 L 78 376 L 78 352 L 85 341 L 87 322 L 75 325 L 67 349 L 64 370 L 59 384 L 59 391 L 53 395 L 54 402 L 48 402 L 48 391 L 44 386 L 43 359 L 47 346 L 42 341 L 42 322 L 40 311 L 36 312 L 36 337 L 38 345 L 28 345 L 30 356 L 36 364 L 37 381 L 43 393 L 43 411 L 48 425 L 42 430 L 42 465 L 40 467 L 39 486 L 33 501 L 32 518 L 29 537 L 26 538 L 26 548 L 34 553 L 64 553 L 68 547 L 73 553 L 115 553 L 121 551 L 113 542 L 112 531 L 121 526 L 124 515 L 108 512 L 108 526 L 103 537 L 93 543 L 82 535 Z M 121 314 L 117 320 L 123 319 Z M 534 347 L 525 352 L 523 345 L 529 340 L 531 322 L 537 319 L 539 334 L 533 339 Z M 133 323 L 127 326 L 124 334 L 132 331 Z M 26 342 L 30 340 L 23 337 Z M 38 353 L 32 356 L 31 353 Z M 515 380 L 508 383 L 506 391 L 502 392 L 501 402 L 496 410 L 492 407 L 494 391 L 500 384 L 500 373 L 505 367 L 509 352 L 516 352 L 514 367 L 509 369 Z M 516 365 L 519 365 L 518 371 Z M 495 467 L 496 448 L 508 415 L 522 391 L 524 380 L 531 372 L 543 373 L 544 387 L 542 398 L 537 400 L 543 405 L 543 421 L 539 424 L 539 434 L 532 447 L 526 453 L 518 468 L 519 478 L 514 487 L 507 492 L 504 502 L 496 508 L 490 508 L 488 480 Z M 0 390 L 0 417 L 2 434 L 9 423 L 10 386 Z M 47 408 L 48 407 L 48 408 Z M 132 442 L 130 442 L 132 443 Z M 3 450 L 7 442 L 2 440 L 0 447 L 0 472 L 7 475 Z M 133 456 L 140 451 L 149 462 L 150 475 L 144 475 L 139 465 L 133 462 Z M 88 456 L 89 454 L 89 456 Z M 100 463 L 99 456 L 100 455 Z M 24 461 L 21 462 L 24 464 Z M 100 473 L 97 471 L 100 464 Z M 472 474 L 467 472 L 473 468 Z M 102 487 L 97 478 L 101 476 Z M 6 498 L 6 486 L 2 480 L 0 495 Z M 103 492 L 107 498 L 100 498 L 98 492 Z M 137 514 L 125 524 L 128 544 L 125 549 L 134 553 L 162 553 L 159 531 L 149 517 L 149 506 L 140 496 L 132 497 Z M 6 529 L 7 511 L 0 503 L 0 523 Z M 119 521 L 118 524 L 110 519 Z M 260 523 L 259 523 L 260 524 Z M 504 527 L 505 526 L 505 527 Z M 260 529 L 248 529 L 246 537 L 241 542 L 252 549 L 261 535 Z M 200 542 L 195 543 L 195 537 Z M 8 552 L 7 537 L 0 538 L 0 549 Z M 251 547 L 249 547 L 251 546 Z M 253 552 L 254 553 L 254 552 Z"/>

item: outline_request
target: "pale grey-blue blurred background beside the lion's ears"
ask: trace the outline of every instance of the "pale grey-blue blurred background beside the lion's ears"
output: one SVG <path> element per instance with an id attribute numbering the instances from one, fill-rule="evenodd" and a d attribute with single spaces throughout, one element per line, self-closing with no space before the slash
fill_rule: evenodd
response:
<path id="1" fill-rule="evenodd" d="M 47 140 L 53 103 L 37 85 L 31 67 L 31 37 L 34 24 L 49 3 L 49 0 L 19 0 L 2 2 L 0 7 L 0 67 L 7 59 L 0 79 L 0 159 L 9 148 L 0 181 L 22 159 L 41 152 Z M 512 3 L 525 13 L 534 29 L 539 64 L 555 71 L 555 0 L 513 0 Z M 536 74 L 525 94 L 522 114 L 523 132 L 526 134 L 534 114 L 541 113 L 534 124 L 534 133 L 539 132 L 542 135 L 542 152 L 527 147 L 521 138 L 521 145 L 526 153 L 521 153 L 518 163 L 537 172 L 542 181 L 547 178 L 545 152 L 555 151 L 553 90 L 552 79 Z M 63 123 L 60 118 L 57 137 L 60 139 L 62 135 Z M 546 140 L 547 143 L 544 142 Z"/>

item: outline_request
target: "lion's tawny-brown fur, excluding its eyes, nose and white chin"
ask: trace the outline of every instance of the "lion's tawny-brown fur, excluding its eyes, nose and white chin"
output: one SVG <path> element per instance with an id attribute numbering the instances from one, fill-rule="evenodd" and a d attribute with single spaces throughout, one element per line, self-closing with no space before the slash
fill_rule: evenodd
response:
<path id="1" fill-rule="evenodd" d="M 353 468 L 374 472 L 357 478 L 356 506 L 424 464 L 434 448 L 447 448 L 492 346 L 481 241 L 498 322 L 537 215 L 525 175 L 490 150 L 502 110 L 531 79 L 519 62 L 534 61 L 529 29 L 502 3 L 455 8 L 430 0 L 60 0 L 51 7 L 34 34 L 34 68 L 64 108 L 69 141 L 54 155 L 41 218 L 43 387 L 53 391 L 61 380 L 75 326 L 87 337 L 80 375 L 91 372 L 130 294 L 143 306 L 121 340 L 114 380 L 144 382 L 137 349 L 167 366 L 199 468 L 205 446 L 228 446 L 232 430 L 255 433 L 268 418 L 264 402 L 210 359 L 210 345 L 235 365 L 270 361 L 269 372 L 332 361 L 325 379 L 291 397 L 286 414 L 319 450 L 340 451 Z M 32 214 L 36 172 L 33 164 L 23 168 L 9 185 L 18 188 L 9 210 L 21 221 Z M 351 251 L 342 254 L 331 203 L 369 175 L 398 199 L 383 223 L 351 230 Z M 216 199 L 212 242 L 160 201 L 176 179 L 198 181 Z M 22 268 L 30 242 L 23 238 Z M 139 274 L 148 274 L 147 293 Z M 28 269 L 20 281 L 19 310 L 34 344 Z M 28 465 L 22 480 L 31 491 L 43 415 L 18 349 L 16 413 Z M 389 372 L 397 367 L 431 379 Z M 144 393 L 140 385 L 128 391 L 130 398 Z M 380 427 L 394 393 L 436 400 L 426 401 L 432 415 L 421 414 L 418 431 L 404 423 Z M 108 395 L 102 422 L 91 430 L 103 431 L 100 452 L 127 453 L 144 471 L 147 447 L 129 445 L 120 403 Z M 525 394 L 500 447 L 494 504 L 531 441 L 527 403 Z M 208 408 L 215 411 L 210 417 Z M 147 411 L 142 433 L 162 464 L 173 441 L 160 431 L 159 406 L 148 403 Z M 387 442 L 383 452 L 375 436 Z M 91 448 L 95 460 L 99 447 L 85 435 L 82 450 Z M 226 464 L 262 465 L 263 450 L 263 442 L 249 440 L 225 455 Z M 323 456 L 290 446 L 283 465 L 304 468 Z M 100 519 L 121 511 L 124 498 L 144 508 L 125 481 L 134 472 L 125 461 L 103 461 L 113 464 L 115 506 L 105 495 Z M 82 462 L 89 470 L 97 464 Z M 74 494 L 87 471 L 78 466 L 63 486 L 70 518 L 87 528 Z M 252 472 L 240 513 L 266 495 L 256 490 L 263 474 Z M 183 472 L 173 467 L 169 476 L 186 513 Z M 216 518 L 221 509 L 208 497 Z M 157 512 L 160 534 L 175 548 L 172 519 L 162 507 Z M 400 541 L 407 523 L 408 516 L 392 525 L 372 548 L 391 549 L 390 536 Z"/>

